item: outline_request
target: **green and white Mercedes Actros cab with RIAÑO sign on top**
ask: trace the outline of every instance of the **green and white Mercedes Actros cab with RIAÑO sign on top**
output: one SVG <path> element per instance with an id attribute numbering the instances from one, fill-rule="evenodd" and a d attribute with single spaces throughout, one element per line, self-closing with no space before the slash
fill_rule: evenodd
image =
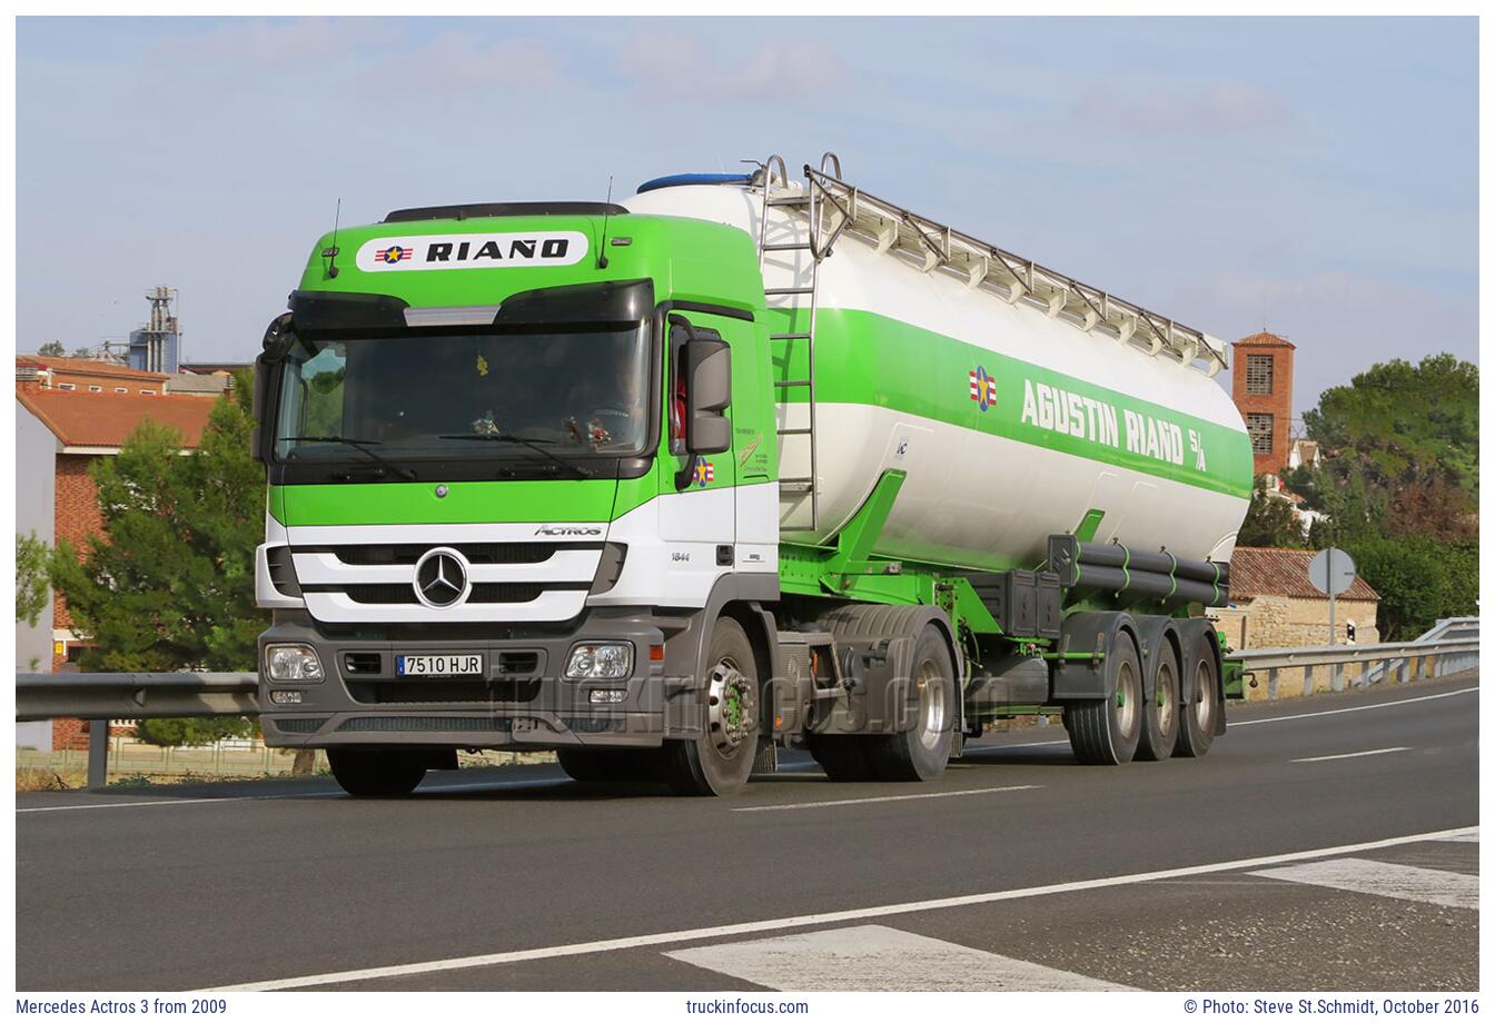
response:
<path id="1" fill-rule="evenodd" d="M 620 206 L 396 211 L 320 239 L 257 360 L 266 744 L 389 795 L 459 748 L 586 774 L 694 750 L 712 700 L 740 718 L 762 633 L 703 693 L 700 620 L 752 626 L 779 596 L 762 309 L 745 231 Z M 746 778 L 737 730 L 707 745 Z"/>

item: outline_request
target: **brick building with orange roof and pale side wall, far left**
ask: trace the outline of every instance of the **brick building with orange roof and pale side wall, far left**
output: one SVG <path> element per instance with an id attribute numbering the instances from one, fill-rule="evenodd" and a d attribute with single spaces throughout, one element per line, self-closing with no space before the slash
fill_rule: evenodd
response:
<path id="1" fill-rule="evenodd" d="M 211 400 L 161 394 L 158 385 L 147 385 L 150 381 L 144 378 L 164 381 L 161 373 L 142 373 L 112 363 L 97 366 L 100 369 L 48 366 L 52 385 L 46 387 L 16 360 L 16 533 L 36 533 L 48 545 L 66 539 L 84 550 L 88 538 L 100 532 L 99 497 L 90 467 L 99 458 L 118 454 L 141 423 L 152 420 L 175 427 L 182 435 L 184 450 L 190 450 L 197 447 L 212 414 Z M 72 388 L 61 387 L 69 382 Z M 85 390 L 91 387 L 99 390 Z M 152 390 L 157 393 L 147 393 Z M 18 671 L 55 671 L 75 660 L 79 648 L 67 605 L 55 594 L 34 627 L 16 623 Z M 18 726 L 18 739 L 39 748 L 43 744 L 52 748 L 73 745 L 79 733 L 78 721 L 54 721 L 46 735 L 42 729 Z"/>

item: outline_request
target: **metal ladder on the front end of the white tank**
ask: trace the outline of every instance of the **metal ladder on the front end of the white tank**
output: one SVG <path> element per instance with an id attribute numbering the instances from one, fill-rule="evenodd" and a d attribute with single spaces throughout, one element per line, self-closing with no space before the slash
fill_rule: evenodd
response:
<path id="1" fill-rule="evenodd" d="M 800 284 L 800 266 L 798 261 L 792 261 L 789 267 L 789 282 L 785 287 L 764 287 L 762 293 L 768 299 L 770 309 L 779 309 L 789 312 L 789 330 L 780 335 L 768 335 L 770 341 L 788 342 L 789 351 L 792 346 L 803 342 L 804 343 L 804 366 L 806 373 L 801 379 L 776 379 L 774 387 L 779 390 L 779 399 L 786 396 L 786 391 L 795 388 L 803 388 L 806 391 L 806 405 L 809 411 L 807 426 L 788 426 L 789 420 L 785 415 L 785 426 L 779 427 L 777 433 L 780 438 L 788 436 L 803 436 L 810 450 L 809 457 L 809 475 L 806 476 L 780 476 L 779 493 L 792 494 L 807 494 L 810 499 L 810 530 L 818 530 L 821 524 L 821 502 L 816 482 L 819 479 L 819 445 L 816 444 L 815 435 L 815 418 L 816 418 L 816 402 L 815 402 L 815 318 L 819 309 L 819 281 L 821 281 L 821 261 L 831 254 L 831 245 L 840 236 L 840 231 L 849 223 L 848 209 L 830 196 L 818 182 L 815 175 L 810 173 L 810 167 L 804 167 L 804 178 L 807 188 L 803 193 L 794 193 L 789 190 L 789 175 L 783 166 L 783 157 L 774 154 L 768 157 L 767 163 L 762 164 L 759 170 L 762 176 L 762 206 L 758 215 L 758 270 L 764 278 L 764 285 L 768 284 L 768 254 L 770 252 L 806 252 L 810 257 L 810 281 L 807 285 Z M 840 178 L 840 158 L 834 152 L 827 152 L 821 157 L 821 173 L 831 175 L 833 178 Z M 774 178 L 777 176 L 777 184 L 782 188 L 782 194 L 774 196 Z M 830 231 L 824 230 L 824 214 L 827 203 L 833 208 L 831 217 L 836 212 L 840 214 L 839 223 Z M 789 240 L 789 242 L 770 242 L 768 240 L 768 215 L 773 209 L 788 208 L 792 211 L 803 211 L 809 220 L 806 240 Z M 791 237 L 792 237 L 792 221 L 791 221 Z M 783 305 L 776 305 L 774 300 L 785 300 Z M 804 312 L 803 326 L 800 314 Z M 788 360 L 785 366 L 788 372 Z M 780 447 L 780 455 L 783 450 Z"/>

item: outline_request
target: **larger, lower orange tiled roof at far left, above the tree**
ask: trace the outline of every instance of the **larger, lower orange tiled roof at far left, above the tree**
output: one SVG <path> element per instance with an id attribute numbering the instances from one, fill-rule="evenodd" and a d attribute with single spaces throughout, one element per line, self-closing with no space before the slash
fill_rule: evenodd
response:
<path id="1" fill-rule="evenodd" d="M 87 448 L 118 448 L 145 420 L 176 427 L 182 447 L 196 448 L 214 406 L 214 402 L 187 394 L 16 391 L 15 400 L 64 445 Z"/>

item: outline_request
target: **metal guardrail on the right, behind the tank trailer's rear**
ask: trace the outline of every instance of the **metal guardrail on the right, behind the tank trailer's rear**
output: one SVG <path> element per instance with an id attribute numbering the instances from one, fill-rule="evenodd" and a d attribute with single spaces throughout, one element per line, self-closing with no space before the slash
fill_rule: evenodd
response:
<path id="1" fill-rule="evenodd" d="M 1419 638 L 1407 644 L 1241 650 L 1229 654 L 1226 660 L 1241 666 L 1253 688 L 1259 685 L 1257 675 L 1265 672 L 1268 699 L 1278 696 L 1280 674 L 1293 669 L 1302 671 L 1302 693 L 1311 696 L 1316 684 L 1313 669 L 1325 665 L 1331 668 L 1329 688 L 1335 693 L 1346 687 L 1343 671 L 1346 665 L 1366 666 L 1360 678 L 1353 682 L 1356 688 L 1383 680 L 1405 682 L 1413 671 L 1422 677 L 1437 678 L 1467 671 L 1479 663 L 1479 618 L 1450 618 L 1447 621 L 1456 623 L 1456 626 L 1444 629 L 1440 635 L 1447 638 L 1440 639 Z M 1440 626 L 1443 624 L 1440 623 Z"/>

